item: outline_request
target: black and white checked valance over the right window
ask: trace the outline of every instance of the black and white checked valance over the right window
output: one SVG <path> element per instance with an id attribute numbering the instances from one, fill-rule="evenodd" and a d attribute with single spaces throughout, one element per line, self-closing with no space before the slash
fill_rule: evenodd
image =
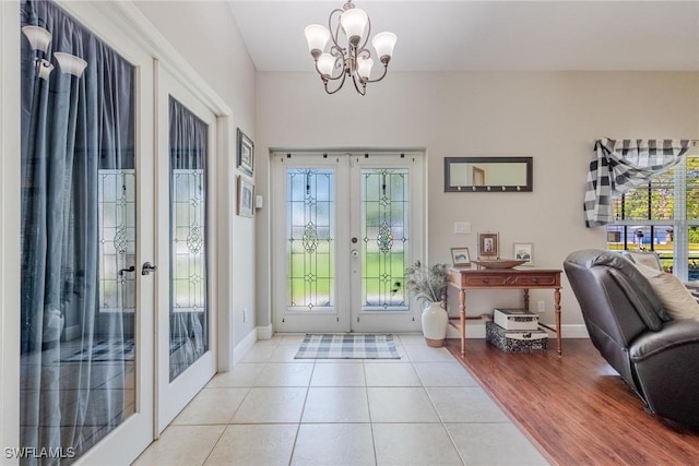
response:
<path id="1" fill-rule="evenodd" d="M 595 142 L 585 183 L 584 214 L 588 227 L 614 222 L 612 199 L 648 183 L 672 168 L 687 153 L 690 140 L 621 140 Z"/>

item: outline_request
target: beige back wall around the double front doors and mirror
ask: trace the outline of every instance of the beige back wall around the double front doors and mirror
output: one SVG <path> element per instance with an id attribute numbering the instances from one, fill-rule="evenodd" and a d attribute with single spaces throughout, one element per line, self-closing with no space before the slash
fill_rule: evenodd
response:
<path id="1" fill-rule="evenodd" d="M 311 63 L 309 63 L 309 67 Z M 428 254 L 449 262 L 451 246 L 476 251 L 478 231 L 498 231 L 502 255 L 533 242 L 538 267 L 560 268 L 577 249 L 603 248 L 603 229 L 582 217 L 587 167 L 596 138 L 699 136 L 699 73 L 462 72 L 391 73 L 333 96 L 312 73 L 258 73 L 257 188 L 269 193 L 269 147 L 425 147 L 428 157 Z M 534 157 L 532 193 L 445 193 L 443 157 Z M 269 202 L 268 202 L 269 205 Z M 270 321 L 269 211 L 258 216 L 258 324 Z M 454 222 L 472 235 L 454 235 Z M 564 324 L 580 327 L 565 282 Z M 553 321 L 550 292 L 545 300 Z M 517 306 L 517 295 L 473 296 L 473 313 Z"/>

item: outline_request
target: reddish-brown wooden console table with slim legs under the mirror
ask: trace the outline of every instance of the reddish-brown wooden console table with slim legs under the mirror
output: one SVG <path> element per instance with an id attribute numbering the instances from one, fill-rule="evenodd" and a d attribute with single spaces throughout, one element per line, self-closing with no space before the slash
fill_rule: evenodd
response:
<path id="1" fill-rule="evenodd" d="M 461 356 L 465 356 L 466 344 L 466 289 L 522 289 L 524 290 L 524 309 L 529 310 L 529 290 L 542 288 L 554 290 L 556 327 L 545 324 L 540 326 L 556 333 L 558 356 L 561 356 L 560 272 L 542 268 L 450 268 L 447 312 L 449 312 L 450 291 L 458 291 L 459 316 L 450 316 L 449 323 L 459 331 L 461 336 Z"/>

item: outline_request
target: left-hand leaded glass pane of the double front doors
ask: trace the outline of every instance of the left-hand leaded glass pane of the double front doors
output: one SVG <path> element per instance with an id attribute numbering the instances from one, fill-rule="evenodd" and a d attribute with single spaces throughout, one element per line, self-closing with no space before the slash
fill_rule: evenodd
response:
<path id="1" fill-rule="evenodd" d="M 287 309 L 330 311 L 335 306 L 334 170 L 286 171 Z"/>

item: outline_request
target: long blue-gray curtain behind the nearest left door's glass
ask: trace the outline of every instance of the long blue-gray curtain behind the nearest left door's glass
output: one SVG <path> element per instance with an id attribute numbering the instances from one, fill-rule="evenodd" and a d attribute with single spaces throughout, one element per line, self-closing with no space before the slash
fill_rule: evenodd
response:
<path id="1" fill-rule="evenodd" d="M 51 2 L 23 1 L 20 20 L 52 35 L 46 56 L 22 38 L 21 445 L 57 449 L 24 464 L 69 464 L 126 416 L 132 368 L 93 348 L 132 337 L 132 315 L 98 312 L 97 178 L 134 166 L 133 67 Z M 83 75 L 39 79 L 37 53 L 57 51 L 86 60 Z"/>

